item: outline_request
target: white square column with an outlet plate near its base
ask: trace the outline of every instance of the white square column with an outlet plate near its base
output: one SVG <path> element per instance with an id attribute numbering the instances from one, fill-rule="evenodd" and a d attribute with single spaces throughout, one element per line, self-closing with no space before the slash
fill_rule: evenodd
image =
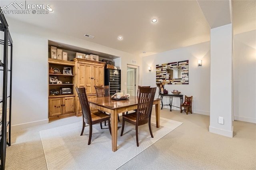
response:
<path id="1" fill-rule="evenodd" d="M 233 137 L 232 65 L 233 29 L 227 24 L 210 31 L 210 126 L 209 132 Z M 220 124 L 219 119 L 223 118 Z"/>

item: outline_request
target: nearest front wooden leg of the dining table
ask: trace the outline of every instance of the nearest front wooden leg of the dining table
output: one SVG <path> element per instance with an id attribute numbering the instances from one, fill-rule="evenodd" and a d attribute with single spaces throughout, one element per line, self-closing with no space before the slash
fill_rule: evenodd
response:
<path id="1" fill-rule="evenodd" d="M 118 123 L 118 115 L 117 110 L 114 110 L 114 113 L 110 113 L 110 121 L 111 121 L 111 138 L 112 138 L 112 151 L 116 152 L 117 150 L 117 123 Z"/>

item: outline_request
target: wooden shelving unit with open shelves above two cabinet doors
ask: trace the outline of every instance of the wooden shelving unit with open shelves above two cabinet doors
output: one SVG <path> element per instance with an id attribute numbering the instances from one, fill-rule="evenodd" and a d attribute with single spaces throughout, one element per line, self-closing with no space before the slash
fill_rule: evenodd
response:
<path id="1" fill-rule="evenodd" d="M 74 61 L 48 59 L 49 70 L 56 68 L 60 73 L 49 73 L 49 121 L 75 115 Z M 64 74 L 64 67 L 70 67 L 72 74 Z M 50 77 L 56 77 L 57 82 L 50 82 Z M 69 82 L 69 83 L 64 83 Z M 65 90 L 65 91 L 64 91 Z M 52 94 L 51 91 L 58 93 Z M 68 94 L 63 94 L 68 93 Z"/>

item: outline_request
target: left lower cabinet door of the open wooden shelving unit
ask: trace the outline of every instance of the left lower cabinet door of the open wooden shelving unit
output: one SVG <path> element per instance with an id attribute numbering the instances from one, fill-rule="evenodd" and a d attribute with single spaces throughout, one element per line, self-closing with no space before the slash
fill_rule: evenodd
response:
<path id="1" fill-rule="evenodd" d="M 62 114 L 62 98 L 49 99 L 49 117 Z"/>

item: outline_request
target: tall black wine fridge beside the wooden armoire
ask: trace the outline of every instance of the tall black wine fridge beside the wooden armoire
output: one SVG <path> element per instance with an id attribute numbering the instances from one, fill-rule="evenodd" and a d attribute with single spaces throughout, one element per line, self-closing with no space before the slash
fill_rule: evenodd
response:
<path id="1" fill-rule="evenodd" d="M 105 69 L 105 85 L 109 85 L 110 95 L 114 95 L 116 90 L 121 90 L 121 70 Z"/>

